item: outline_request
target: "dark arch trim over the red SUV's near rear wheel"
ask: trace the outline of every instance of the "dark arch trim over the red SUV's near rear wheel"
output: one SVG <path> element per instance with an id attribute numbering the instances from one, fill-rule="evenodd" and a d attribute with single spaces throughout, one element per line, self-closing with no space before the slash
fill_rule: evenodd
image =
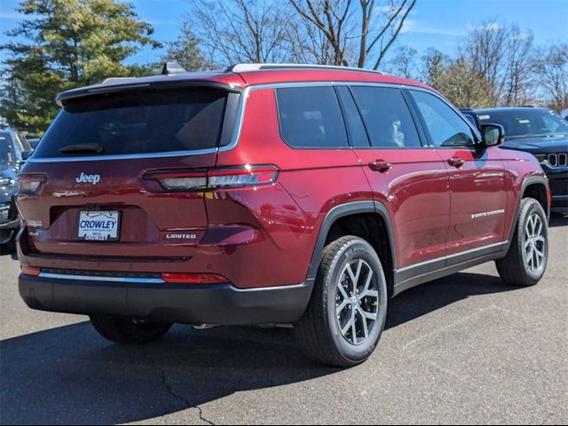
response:
<path id="1" fill-rule="evenodd" d="M 392 259 L 392 269 L 397 269 L 394 233 L 392 232 L 392 222 L 390 220 L 389 210 L 380 201 L 351 201 L 330 209 L 327 212 L 326 217 L 323 219 L 323 222 L 319 227 L 318 239 L 316 240 L 315 247 L 313 248 L 312 260 L 310 261 L 310 267 L 306 277 L 307 280 L 315 280 L 316 275 L 318 274 L 321 254 L 326 243 L 327 234 L 331 229 L 331 225 L 333 225 L 335 221 L 341 217 L 358 215 L 361 213 L 373 213 L 382 217 L 389 237 L 388 242 L 390 246 L 390 256 Z"/>

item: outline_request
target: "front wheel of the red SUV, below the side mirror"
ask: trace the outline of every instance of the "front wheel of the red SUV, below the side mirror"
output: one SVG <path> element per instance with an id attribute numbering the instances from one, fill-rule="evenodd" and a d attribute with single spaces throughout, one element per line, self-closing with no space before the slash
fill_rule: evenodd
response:
<path id="1" fill-rule="evenodd" d="M 540 281 L 547 267 L 548 219 L 540 202 L 533 198 L 523 199 L 519 209 L 509 252 L 495 264 L 506 284 L 528 287 Z M 538 238 L 536 233 L 539 233 Z"/>

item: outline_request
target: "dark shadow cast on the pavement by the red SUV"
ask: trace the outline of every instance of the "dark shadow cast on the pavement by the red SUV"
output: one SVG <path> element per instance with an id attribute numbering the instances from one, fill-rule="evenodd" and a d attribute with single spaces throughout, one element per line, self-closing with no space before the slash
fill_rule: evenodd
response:
<path id="1" fill-rule="evenodd" d="M 469 296 L 510 289 L 492 276 L 459 273 L 393 299 L 387 328 Z M 6 339 L 0 357 L 2 424 L 142 421 L 237 391 L 340 371 L 313 364 L 288 328 L 176 326 L 159 342 L 123 347 L 82 322 Z"/>

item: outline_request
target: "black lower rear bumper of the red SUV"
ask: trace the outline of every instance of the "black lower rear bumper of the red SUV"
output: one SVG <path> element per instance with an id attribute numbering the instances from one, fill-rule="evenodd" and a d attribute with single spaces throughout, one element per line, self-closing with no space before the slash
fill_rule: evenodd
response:
<path id="1" fill-rule="evenodd" d="M 117 315 L 186 324 L 248 325 L 300 319 L 313 282 L 242 290 L 231 284 L 177 285 L 141 280 L 68 280 L 20 274 L 20 296 L 32 309 Z"/>

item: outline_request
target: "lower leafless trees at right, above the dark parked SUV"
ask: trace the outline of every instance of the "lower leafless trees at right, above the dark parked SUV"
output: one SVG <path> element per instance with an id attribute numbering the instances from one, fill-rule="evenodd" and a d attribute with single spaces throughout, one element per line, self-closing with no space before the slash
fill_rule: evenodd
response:
<path id="1" fill-rule="evenodd" d="M 516 24 L 491 20 L 469 28 L 455 57 L 398 46 L 385 69 L 429 84 L 460 107 L 568 107 L 568 43 L 537 46 Z"/>

